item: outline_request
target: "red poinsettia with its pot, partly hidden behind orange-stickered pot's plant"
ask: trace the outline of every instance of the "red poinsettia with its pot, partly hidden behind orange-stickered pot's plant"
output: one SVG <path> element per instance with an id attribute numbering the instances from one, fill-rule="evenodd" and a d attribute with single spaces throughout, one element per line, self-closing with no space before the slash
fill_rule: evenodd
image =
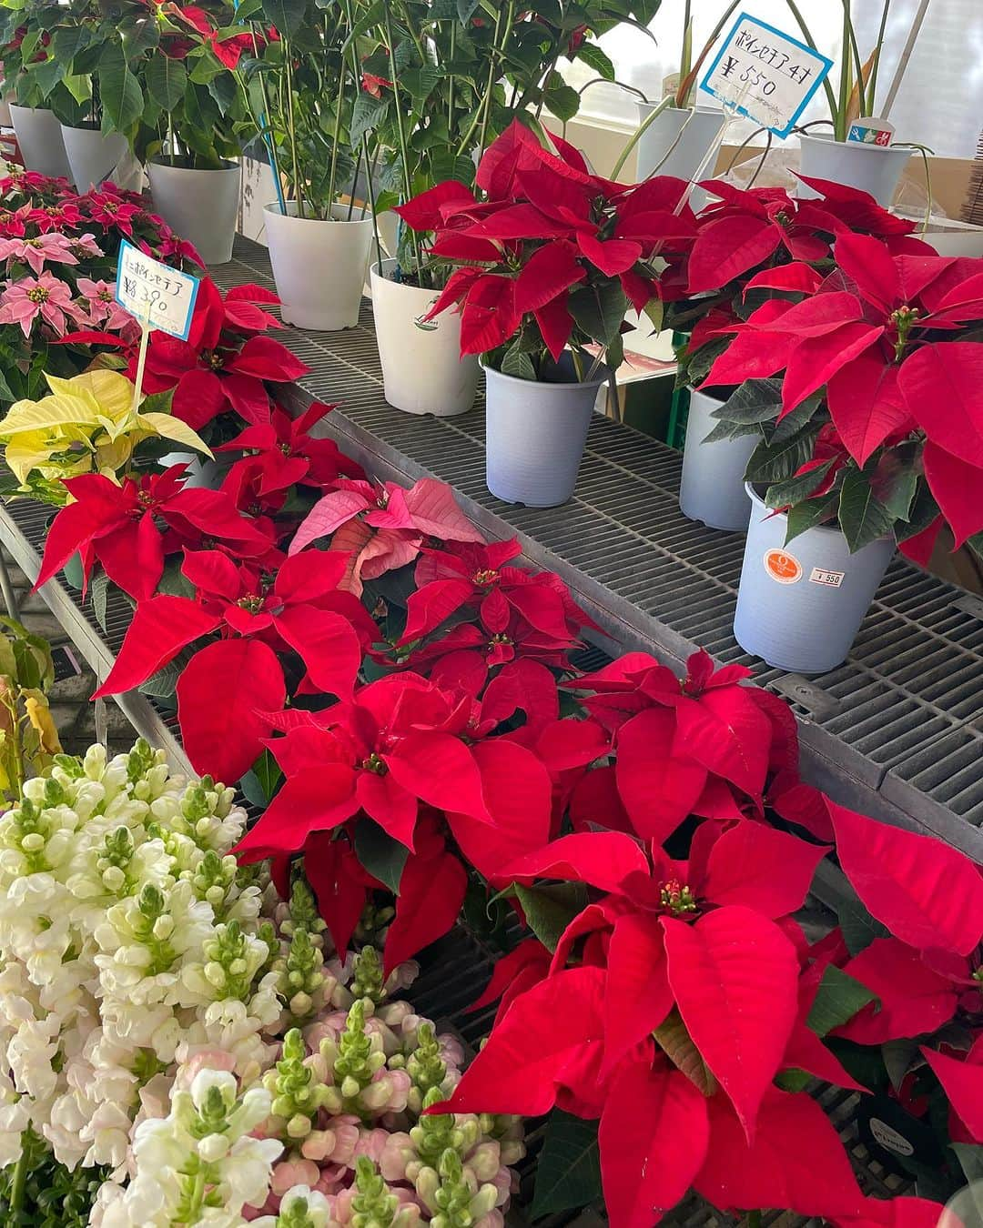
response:
<path id="1" fill-rule="evenodd" d="M 742 192 L 726 183 L 707 184 L 716 200 L 697 216 L 692 248 L 664 273 L 665 327 L 687 332 L 679 350 L 677 387 L 689 391 L 689 409 L 679 485 L 684 516 L 711 528 L 745 532 L 751 503 L 745 470 L 762 441 L 761 424 L 774 419 L 778 404 L 746 399 L 736 384 L 700 387 L 713 363 L 737 343 L 742 318 L 769 300 L 784 309 L 815 285 L 813 270 L 832 271 L 831 244 L 838 235 L 876 235 L 893 252 L 931 254 L 872 196 L 853 188 L 813 181 L 820 199 L 796 201 L 779 188 Z M 774 427 L 780 443 L 796 420 Z"/>

